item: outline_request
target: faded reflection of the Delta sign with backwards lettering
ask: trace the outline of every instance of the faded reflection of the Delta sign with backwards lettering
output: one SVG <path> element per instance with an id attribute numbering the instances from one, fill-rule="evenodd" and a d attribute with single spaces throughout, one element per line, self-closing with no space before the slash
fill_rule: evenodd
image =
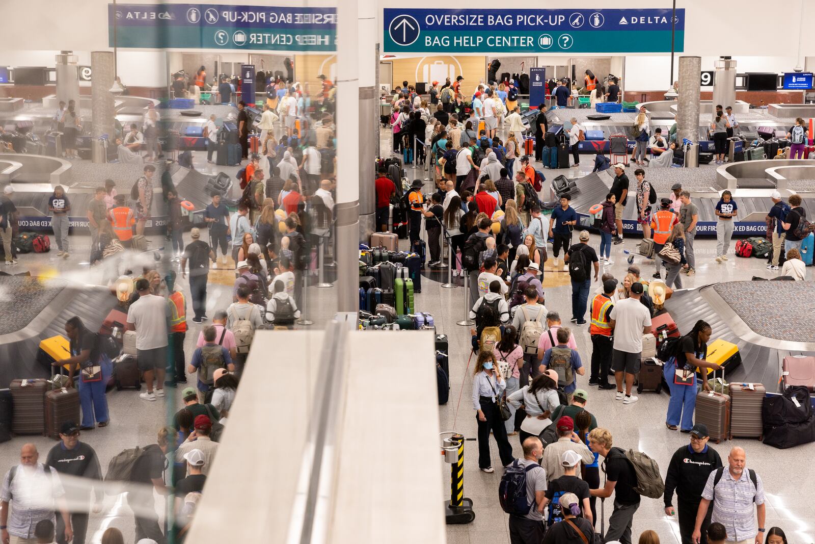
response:
<path id="1" fill-rule="evenodd" d="M 337 10 L 222 4 L 108 4 L 108 43 L 111 47 L 147 49 L 336 51 Z"/>

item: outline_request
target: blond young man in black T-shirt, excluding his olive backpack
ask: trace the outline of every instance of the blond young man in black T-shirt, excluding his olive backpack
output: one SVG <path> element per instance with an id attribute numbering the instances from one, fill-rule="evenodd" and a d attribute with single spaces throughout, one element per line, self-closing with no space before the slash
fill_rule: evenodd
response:
<path id="1" fill-rule="evenodd" d="M 614 511 L 611 512 L 604 542 L 616 540 L 621 544 L 632 544 L 631 524 L 640 507 L 640 493 L 634 488 L 639 482 L 637 472 L 625 452 L 613 447 L 612 440 L 611 433 L 602 427 L 588 433 L 588 447 L 604 458 L 603 470 L 606 472 L 606 484 L 600 489 L 590 489 L 589 493 L 601 499 L 615 493 Z"/>

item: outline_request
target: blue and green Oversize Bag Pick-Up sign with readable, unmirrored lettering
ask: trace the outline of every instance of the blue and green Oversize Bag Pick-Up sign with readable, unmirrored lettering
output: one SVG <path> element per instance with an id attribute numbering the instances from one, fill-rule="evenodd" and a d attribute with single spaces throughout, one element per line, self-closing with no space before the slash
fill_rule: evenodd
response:
<path id="1" fill-rule="evenodd" d="M 385 8 L 382 51 L 399 53 L 663 53 L 671 51 L 670 9 Z M 685 46 L 676 10 L 676 51 Z"/>

